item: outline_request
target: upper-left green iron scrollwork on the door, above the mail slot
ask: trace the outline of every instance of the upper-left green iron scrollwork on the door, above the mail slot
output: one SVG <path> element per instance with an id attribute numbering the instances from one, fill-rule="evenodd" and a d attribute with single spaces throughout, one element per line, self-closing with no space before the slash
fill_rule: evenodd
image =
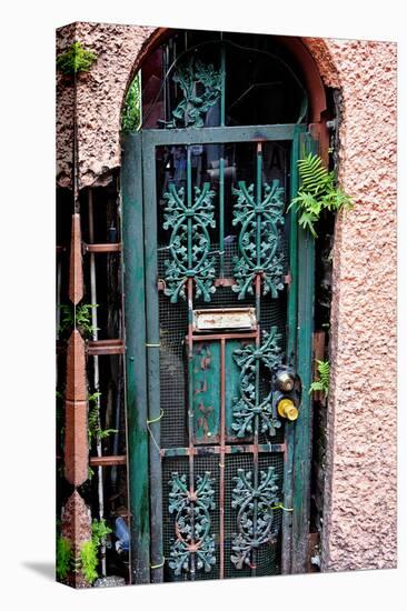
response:
<path id="1" fill-rule="evenodd" d="M 165 261 L 165 293 L 176 303 L 178 297 L 186 298 L 185 284 L 188 278 L 196 282 L 196 297 L 210 301 L 215 292 L 215 257 L 210 257 L 208 227 L 215 227 L 212 198 L 215 191 L 205 182 L 202 190 L 195 187 L 191 206 L 185 202 L 185 189 L 178 191 L 173 183 L 163 198 L 167 200 L 163 228 L 172 228 L 169 240 L 171 259 Z"/>

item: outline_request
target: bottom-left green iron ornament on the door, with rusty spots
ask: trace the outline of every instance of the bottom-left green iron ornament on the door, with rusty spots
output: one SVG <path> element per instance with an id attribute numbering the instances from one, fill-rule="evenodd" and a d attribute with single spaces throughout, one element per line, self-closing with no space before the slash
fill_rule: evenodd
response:
<path id="1" fill-rule="evenodd" d="M 176 535 L 172 540 L 169 567 L 176 575 L 201 569 L 210 572 L 216 563 L 215 535 L 210 534 L 209 511 L 215 509 L 214 479 L 206 471 L 197 477 L 197 489 L 187 488 L 187 475 L 172 473 L 169 512 L 176 513 Z"/>

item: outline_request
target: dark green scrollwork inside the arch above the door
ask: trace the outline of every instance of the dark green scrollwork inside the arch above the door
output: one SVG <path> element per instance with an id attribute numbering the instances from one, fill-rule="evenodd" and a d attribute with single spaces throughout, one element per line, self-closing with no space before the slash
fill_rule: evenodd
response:
<path id="1" fill-rule="evenodd" d="M 222 72 L 190 56 L 178 67 L 172 80 L 182 89 L 183 99 L 172 111 L 173 119 L 166 128 L 201 128 L 206 113 L 220 97 Z"/>

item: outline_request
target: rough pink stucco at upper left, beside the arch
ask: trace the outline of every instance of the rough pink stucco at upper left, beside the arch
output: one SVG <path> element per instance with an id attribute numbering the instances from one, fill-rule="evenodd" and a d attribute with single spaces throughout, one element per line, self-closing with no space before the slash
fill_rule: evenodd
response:
<path id="1" fill-rule="evenodd" d="M 79 187 L 102 186 L 120 167 L 120 111 L 142 44 L 155 28 L 75 23 L 57 31 L 57 53 L 73 40 L 97 53 L 77 77 Z M 71 183 L 73 86 L 57 76 L 57 181 Z"/>

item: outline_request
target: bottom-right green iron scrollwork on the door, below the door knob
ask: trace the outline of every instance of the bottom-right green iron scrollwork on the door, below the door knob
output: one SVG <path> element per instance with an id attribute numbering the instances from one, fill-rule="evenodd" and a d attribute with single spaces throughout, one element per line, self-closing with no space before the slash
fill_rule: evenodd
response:
<path id="1" fill-rule="evenodd" d="M 245 473 L 238 469 L 234 478 L 236 483 L 232 490 L 231 507 L 238 509 L 238 532 L 232 534 L 230 557 L 237 569 L 250 564 L 251 551 L 257 550 L 264 543 L 272 541 L 278 534 L 278 527 L 274 527 L 274 512 L 270 509 L 279 502 L 278 475 L 274 467 L 267 471 L 260 471 L 260 483 L 254 485 L 251 471 Z"/>

